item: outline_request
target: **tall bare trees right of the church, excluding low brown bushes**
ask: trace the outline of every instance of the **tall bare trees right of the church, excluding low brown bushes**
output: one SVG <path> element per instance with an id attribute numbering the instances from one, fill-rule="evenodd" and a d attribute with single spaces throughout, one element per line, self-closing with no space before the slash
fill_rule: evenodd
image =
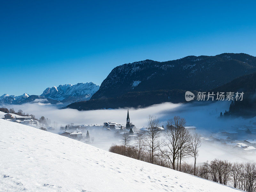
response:
<path id="1" fill-rule="evenodd" d="M 161 156 L 172 169 L 179 170 L 184 159 L 193 157 L 195 174 L 198 148 L 201 146 L 200 136 L 185 129 L 186 120 L 180 116 L 167 121 L 166 132 L 163 134 L 156 129 L 158 122 L 158 118 L 149 116 L 148 131 L 144 133 L 144 145 L 151 155 L 150 163 L 154 163 L 155 156 Z"/>

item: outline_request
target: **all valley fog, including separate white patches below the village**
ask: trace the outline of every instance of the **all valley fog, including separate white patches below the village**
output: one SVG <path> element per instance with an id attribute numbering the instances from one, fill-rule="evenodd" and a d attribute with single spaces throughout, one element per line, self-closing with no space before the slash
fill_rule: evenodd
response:
<path id="1" fill-rule="evenodd" d="M 187 104 L 172 104 L 162 103 L 153 105 L 147 108 L 129 108 L 129 115 L 131 122 L 135 124 L 137 128 L 147 126 L 148 115 L 157 116 L 160 119 L 160 126 L 166 124 L 166 121 L 175 115 L 184 117 L 187 121 L 187 125 L 194 125 L 198 129 L 197 131 L 204 135 L 211 132 L 218 132 L 220 130 L 232 131 L 232 126 L 252 125 L 256 122 L 255 118 L 243 119 L 232 118 L 223 119 L 218 118 L 220 112 L 228 110 L 230 102 L 217 101 L 214 103 L 207 103 L 202 101 L 198 103 Z M 23 105 L 5 105 L 6 108 L 14 108 L 15 111 L 22 109 L 23 112 L 34 114 L 36 118 L 45 116 L 51 119 L 52 126 L 55 129 L 59 129 L 60 126 L 66 124 L 103 124 L 104 122 L 117 122 L 120 124 L 126 123 L 127 108 L 121 109 L 105 109 L 105 110 L 91 110 L 91 111 L 78 111 L 76 109 L 59 109 L 51 104 L 33 103 Z M 119 143 L 121 138 L 115 138 L 112 135 L 106 135 L 104 132 L 90 132 L 91 137 L 95 138 L 92 145 L 108 150 L 112 143 Z M 240 156 L 230 154 L 228 151 L 221 147 L 202 146 L 200 149 L 200 155 L 198 157 L 198 163 L 206 160 L 212 160 L 214 158 L 223 158 L 230 160 L 239 160 Z M 246 157 L 241 157 L 240 160 L 248 160 Z M 251 158 L 249 158 L 251 159 Z"/>

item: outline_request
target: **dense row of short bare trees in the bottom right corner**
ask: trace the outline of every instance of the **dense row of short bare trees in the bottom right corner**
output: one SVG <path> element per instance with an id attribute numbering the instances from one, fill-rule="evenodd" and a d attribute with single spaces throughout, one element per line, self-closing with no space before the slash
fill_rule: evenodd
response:
<path id="1" fill-rule="evenodd" d="M 181 164 L 181 172 L 192 174 L 193 165 Z M 231 163 L 227 160 L 214 159 L 196 166 L 196 176 L 244 191 L 256 192 L 255 163 Z"/>

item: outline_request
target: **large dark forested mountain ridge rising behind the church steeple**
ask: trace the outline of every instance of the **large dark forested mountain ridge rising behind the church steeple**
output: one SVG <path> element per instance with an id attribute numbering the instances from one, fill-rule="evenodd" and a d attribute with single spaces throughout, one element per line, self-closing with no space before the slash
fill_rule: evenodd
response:
<path id="1" fill-rule="evenodd" d="M 89 101 L 75 102 L 67 108 L 90 110 L 185 102 L 186 91 L 208 91 L 253 72 L 256 57 L 245 53 L 137 61 L 115 67 Z"/>

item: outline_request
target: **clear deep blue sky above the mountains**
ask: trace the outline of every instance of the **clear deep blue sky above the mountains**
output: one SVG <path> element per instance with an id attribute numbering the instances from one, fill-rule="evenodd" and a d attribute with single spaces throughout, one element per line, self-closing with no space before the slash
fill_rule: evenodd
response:
<path id="1" fill-rule="evenodd" d="M 139 60 L 244 52 L 256 56 L 254 1 L 2 1 L 4 93 L 40 95 L 101 82 Z"/>

